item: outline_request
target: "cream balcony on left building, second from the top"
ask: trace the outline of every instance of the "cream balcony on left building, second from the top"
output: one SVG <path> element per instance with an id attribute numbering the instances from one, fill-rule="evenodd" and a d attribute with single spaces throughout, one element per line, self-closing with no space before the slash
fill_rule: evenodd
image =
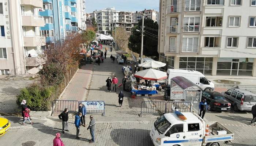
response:
<path id="1" fill-rule="evenodd" d="M 33 15 L 33 14 L 24 14 L 22 16 L 22 26 L 45 26 L 44 17 Z"/>

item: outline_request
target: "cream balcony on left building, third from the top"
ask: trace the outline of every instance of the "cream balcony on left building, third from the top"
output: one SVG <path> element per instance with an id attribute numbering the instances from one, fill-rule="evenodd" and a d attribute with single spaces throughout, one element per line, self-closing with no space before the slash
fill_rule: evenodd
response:
<path id="1" fill-rule="evenodd" d="M 41 36 L 23 36 L 25 47 L 36 47 L 45 45 L 45 37 Z"/>

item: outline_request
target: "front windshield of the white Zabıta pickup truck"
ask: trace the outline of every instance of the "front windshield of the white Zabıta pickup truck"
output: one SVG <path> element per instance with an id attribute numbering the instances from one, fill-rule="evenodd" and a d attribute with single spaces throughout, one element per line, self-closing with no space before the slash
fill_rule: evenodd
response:
<path id="1" fill-rule="evenodd" d="M 154 125 L 157 131 L 163 134 L 167 130 L 167 128 L 171 126 L 171 123 L 165 118 L 164 115 L 162 115 L 155 121 Z"/>

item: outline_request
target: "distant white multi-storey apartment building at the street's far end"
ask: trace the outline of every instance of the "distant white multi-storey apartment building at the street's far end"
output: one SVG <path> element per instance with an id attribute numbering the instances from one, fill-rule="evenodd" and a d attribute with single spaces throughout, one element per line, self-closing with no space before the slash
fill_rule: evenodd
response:
<path id="1" fill-rule="evenodd" d="M 96 12 L 96 21 L 99 34 L 107 34 L 111 31 L 113 22 L 118 22 L 118 13 L 115 8 L 105 8 Z"/>

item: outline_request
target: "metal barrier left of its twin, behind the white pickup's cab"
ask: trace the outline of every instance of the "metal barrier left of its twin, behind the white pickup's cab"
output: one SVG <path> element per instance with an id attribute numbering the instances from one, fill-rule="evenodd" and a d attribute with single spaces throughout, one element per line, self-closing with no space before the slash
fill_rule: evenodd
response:
<path id="1" fill-rule="evenodd" d="M 158 113 L 164 114 L 166 108 L 165 101 L 142 101 L 141 108 L 140 108 L 140 116 L 142 113 Z"/>

